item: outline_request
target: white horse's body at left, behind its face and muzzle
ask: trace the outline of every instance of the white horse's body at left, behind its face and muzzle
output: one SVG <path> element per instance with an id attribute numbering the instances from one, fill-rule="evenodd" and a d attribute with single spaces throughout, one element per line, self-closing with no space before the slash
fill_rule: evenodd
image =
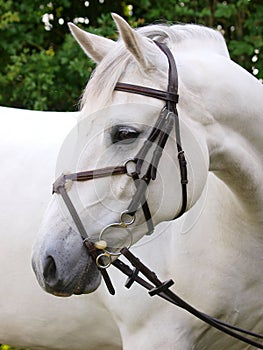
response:
<path id="1" fill-rule="evenodd" d="M 30 263 L 57 153 L 76 115 L 0 108 L 2 344 L 61 350 L 120 347 L 117 328 L 96 294 L 89 300 L 49 296 L 36 284 Z"/>

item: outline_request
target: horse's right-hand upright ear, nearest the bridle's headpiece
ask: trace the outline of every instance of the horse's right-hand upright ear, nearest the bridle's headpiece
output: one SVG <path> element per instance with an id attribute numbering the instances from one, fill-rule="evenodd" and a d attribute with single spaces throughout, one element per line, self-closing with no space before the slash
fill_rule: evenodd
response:
<path id="1" fill-rule="evenodd" d="M 147 53 L 152 51 L 152 45 L 145 37 L 132 29 L 122 17 L 116 13 L 112 13 L 111 15 L 118 27 L 120 36 L 123 39 L 126 48 L 131 52 L 139 64 L 143 66 L 144 69 L 147 69 L 149 66 L 146 59 Z"/>

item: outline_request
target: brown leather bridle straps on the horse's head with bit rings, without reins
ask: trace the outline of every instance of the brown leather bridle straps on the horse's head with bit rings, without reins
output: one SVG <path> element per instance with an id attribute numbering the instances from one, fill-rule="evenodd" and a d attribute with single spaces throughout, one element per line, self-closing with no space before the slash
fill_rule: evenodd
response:
<path id="1" fill-rule="evenodd" d="M 187 207 L 187 163 L 184 156 L 184 151 L 181 144 L 180 136 L 180 126 L 179 118 L 176 105 L 178 103 L 178 74 L 176 69 L 176 64 L 174 57 L 168 47 L 164 44 L 155 42 L 156 45 L 165 53 L 169 63 L 169 72 L 168 72 L 168 87 L 167 91 L 152 89 L 139 85 L 132 85 L 126 83 L 117 83 L 115 86 L 116 91 L 123 91 L 133 94 L 145 95 L 148 97 L 157 98 L 165 101 L 165 106 L 162 109 L 159 117 L 152 127 L 148 138 L 145 140 L 141 149 L 137 155 L 128 159 L 121 166 L 113 166 L 89 171 L 83 171 L 78 173 L 72 173 L 64 175 L 62 174 L 53 185 L 53 193 L 59 193 L 62 195 L 65 204 L 67 205 L 73 220 L 78 222 L 77 227 L 81 233 L 83 240 L 88 240 L 88 236 L 84 230 L 84 227 L 81 223 L 81 220 L 74 209 L 73 204 L 67 194 L 66 183 L 69 181 L 88 181 L 91 179 L 97 179 L 101 177 L 116 176 L 126 174 L 130 176 L 136 186 L 135 194 L 132 196 L 129 206 L 125 211 L 120 214 L 120 222 L 113 223 L 106 226 L 100 233 L 99 241 L 107 241 L 107 232 L 112 229 L 122 228 L 127 229 L 127 234 L 130 235 L 129 244 L 132 244 L 132 234 L 128 230 L 128 226 L 134 223 L 135 214 L 139 207 L 141 206 L 145 222 L 147 224 L 147 234 L 151 234 L 154 230 L 152 215 L 146 200 L 146 190 L 150 182 L 156 179 L 157 169 L 159 161 L 162 156 L 163 149 L 167 143 L 169 135 L 173 128 L 175 129 L 175 137 L 177 144 L 177 156 L 180 167 L 180 176 L 181 176 L 181 188 L 182 188 L 182 202 L 181 209 L 179 213 L 175 216 L 174 219 L 180 217 L 186 210 Z M 149 151 L 154 149 L 151 155 L 151 161 L 146 163 L 146 156 L 149 154 Z M 133 170 L 130 170 L 131 163 Z M 145 169 L 146 170 L 142 170 Z M 142 174 L 143 172 L 143 174 Z M 73 212 L 74 211 L 74 212 Z M 80 227 L 81 226 L 81 227 Z M 104 239 L 105 237 L 105 239 Z M 98 245 L 97 245 L 98 246 Z M 125 244 L 127 246 L 127 244 Z M 100 254 L 100 258 L 97 258 L 96 263 L 99 267 L 104 267 L 105 262 L 100 266 L 100 261 L 108 259 L 107 266 L 111 264 L 112 257 L 120 255 L 120 250 L 116 252 L 116 249 L 109 249 L 105 247 L 102 249 L 104 252 Z M 104 258 L 103 258 L 104 257 Z"/>

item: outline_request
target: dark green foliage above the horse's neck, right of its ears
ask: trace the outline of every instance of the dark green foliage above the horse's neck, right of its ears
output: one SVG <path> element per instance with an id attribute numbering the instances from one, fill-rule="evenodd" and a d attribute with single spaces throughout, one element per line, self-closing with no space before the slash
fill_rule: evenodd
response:
<path id="1" fill-rule="evenodd" d="M 145 23 L 197 23 L 219 29 L 231 58 L 263 78 L 262 0 L 131 0 L 135 18 Z"/>

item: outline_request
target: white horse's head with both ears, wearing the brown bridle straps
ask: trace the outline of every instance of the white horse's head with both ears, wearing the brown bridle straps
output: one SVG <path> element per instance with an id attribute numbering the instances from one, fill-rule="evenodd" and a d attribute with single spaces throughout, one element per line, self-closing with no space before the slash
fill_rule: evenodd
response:
<path id="1" fill-rule="evenodd" d="M 64 192 L 70 197 L 84 235 L 102 249 L 101 264 L 104 259 L 114 260 L 122 247 L 149 234 L 149 221 L 153 228 L 182 214 L 184 170 L 178 161 L 179 154 L 184 153 L 183 161 L 187 163 L 187 179 L 184 178 L 187 200 L 183 211 L 192 208 L 200 198 L 209 168 L 206 131 L 195 114 L 202 115 L 204 124 L 209 124 L 210 116 L 200 101 L 197 104 L 200 109 L 193 111 L 192 101 L 197 98 L 193 91 L 187 91 L 184 82 L 190 79 L 184 78 L 185 74 L 192 73 L 193 68 L 182 64 L 179 54 L 178 61 L 175 55 L 179 88 L 170 94 L 178 93 L 179 102 L 173 101 L 176 106 L 172 106 L 169 132 L 166 128 L 171 111 L 167 110 L 165 99 L 169 104 L 166 93 L 174 77 L 169 76 L 171 61 L 160 46 L 174 52 L 178 45 L 178 53 L 183 56 L 193 26 L 179 26 L 183 34 L 176 43 L 176 35 L 168 27 L 134 30 L 118 15 L 113 15 L 113 19 L 120 35 L 117 42 L 70 24 L 82 49 L 98 66 L 83 94 L 78 125 L 62 145 L 56 169 L 57 176 L 64 174 Z M 212 30 L 207 31 L 207 37 L 212 36 L 209 32 Z M 218 51 L 227 56 L 224 45 L 219 45 Z M 187 61 L 187 57 L 184 59 Z M 127 91 L 127 85 L 133 87 L 132 91 Z M 153 94 L 134 92 L 136 87 L 148 87 Z M 156 97 L 158 91 L 164 95 Z M 151 138 L 154 132 L 156 137 Z M 154 175 L 149 176 L 149 168 L 155 168 Z M 96 175 L 103 171 L 102 176 Z M 143 178 L 144 182 L 140 181 L 142 175 L 148 176 Z M 90 176 L 90 181 L 79 181 L 81 176 L 82 180 Z M 136 202 L 134 197 L 140 186 L 145 188 Z M 83 245 L 84 237 L 58 188 L 56 185 L 34 245 L 33 269 L 41 287 L 50 293 L 58 296 L 90 293 L 100 285 L 101 274 Z"/>

